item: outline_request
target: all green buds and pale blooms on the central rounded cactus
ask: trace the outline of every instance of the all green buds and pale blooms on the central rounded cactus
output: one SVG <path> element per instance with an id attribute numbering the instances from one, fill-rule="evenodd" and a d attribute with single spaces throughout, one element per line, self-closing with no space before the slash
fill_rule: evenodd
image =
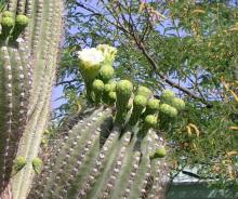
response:
<path id="1" fill-rule="evenodd" d="M 129 80 L 113 80 L 116 53 L 117 50 L 107 44 L 78 53 L 87 96 L 96 105 L 116 106 L 115 122 L 125 127 L 138 125 L 143 138 L 149 129 L 157 127 L 160 117 L 175 118 L 185 103 L 170 90 L 164 90 L 159 101 L 146 87 L 140 85 L 133 93 L 134 87 Z M 164 148 L 159 148 L 151 157 L 164 157 L 166 154 Z"/>

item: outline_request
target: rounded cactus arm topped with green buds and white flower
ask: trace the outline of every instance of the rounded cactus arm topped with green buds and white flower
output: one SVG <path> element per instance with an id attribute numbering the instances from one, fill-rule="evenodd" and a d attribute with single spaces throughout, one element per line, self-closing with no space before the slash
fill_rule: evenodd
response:
<path id="1" fill-rule="evenodd" d="M 28 198 L 164 197 L 169 151 L 155 130 L 185 104 L 172 91 L 160 102 L 145 87 L 116 80 L 116 52 L 103 44 L 78 53 L 88 108 L 50 143 Z"/>

